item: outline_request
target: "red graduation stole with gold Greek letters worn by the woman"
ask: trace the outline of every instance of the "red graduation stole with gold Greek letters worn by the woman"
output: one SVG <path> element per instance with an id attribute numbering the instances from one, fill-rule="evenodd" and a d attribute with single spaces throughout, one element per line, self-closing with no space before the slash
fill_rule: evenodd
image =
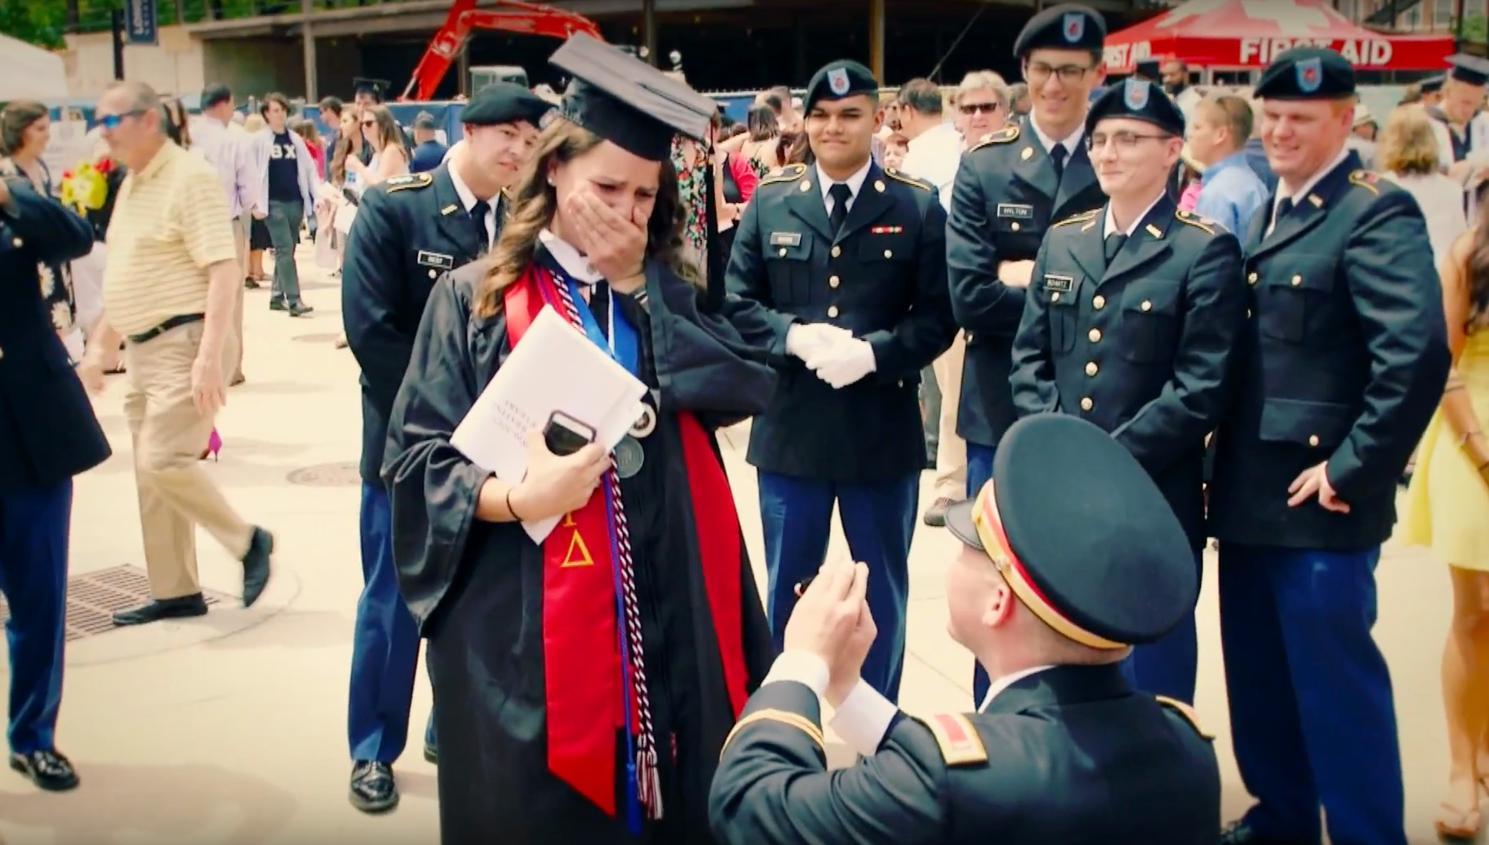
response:
<path id="1" fill-rule="evenodd" d="M 552 277 L 529 268 L 503 292 L 506 338 L 512 349 L 545 304 L 558 308 Z M 581 304 L 582 307 L 582 304 Z M 561 314 L 560 308 L 560 314 Z M 739 514 L 713 438 L 697 417 L 673 414 L 682 441 L 700 565 L 724 686 L 733 715 L 744 708 L 743 578 Z M 666 437 L 658 434 L 658 437 Z M 619 626 L 615 618 L 615 560 L 605 484 L 567 514 L 543 541 L 543 689 L 548 714 L 548 769 L 590 802 L 615 815 L 615 741 L 625 724 Z M 660 671 L 660 668 L 658 668 Z M 633 720 L 634 721 L 634 720 Z M 672 744 L 658 738 L 661 750 Z"/>

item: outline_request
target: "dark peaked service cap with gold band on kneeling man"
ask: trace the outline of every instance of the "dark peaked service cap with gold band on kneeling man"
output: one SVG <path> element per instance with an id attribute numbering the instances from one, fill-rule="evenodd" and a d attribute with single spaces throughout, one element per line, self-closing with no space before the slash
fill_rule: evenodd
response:
<path id="1" fill-rule="evenodd" d="M 1152 642 L 1199 598 L 1194 550 L 1158 486 L 1080 417 L 1014 423 L 993 480 L 946 525 L 993 559 L 1024 607 L 1083 645 Z"/>

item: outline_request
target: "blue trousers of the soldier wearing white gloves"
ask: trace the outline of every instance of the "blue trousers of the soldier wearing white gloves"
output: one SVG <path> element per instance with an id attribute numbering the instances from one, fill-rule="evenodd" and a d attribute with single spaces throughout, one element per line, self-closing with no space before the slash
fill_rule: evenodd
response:
<path id="1" fill-rule="evenodd" d="M 759 474 L 759 514 L 770 572 L 765 611 L 776 648 L 782 647 L 786 620 L 797 604 L 797 581 L 816 574 L 826 559 L 832 504 L 837 502 L 853 560 L 868 563 L 868 610 L 879 627 L 864 660 L 864 680 L 890 700 L 899 696 L 910 538 L 919 495 L 919 472 L 862 484 Z"/>

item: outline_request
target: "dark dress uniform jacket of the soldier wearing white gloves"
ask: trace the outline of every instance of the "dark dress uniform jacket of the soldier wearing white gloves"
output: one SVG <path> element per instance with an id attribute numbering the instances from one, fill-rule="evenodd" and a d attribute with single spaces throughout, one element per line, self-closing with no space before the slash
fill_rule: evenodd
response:
<path id="1" fill-rule="evenodd" d="M 816 173 L 792 165 L 761 182 L 734 238 L 727 313 L 780 374 L 770 407 L 755 417 L 747 458 L 780 475 L 902 478 L 925 468 L 920 370 L 956 332 L 946 212 L 929 183 L 873 164 L 834 238 Z M 834 390 L 786 355 L 795 322 L 832 323 L 867 340 L 876 371 Z"/>

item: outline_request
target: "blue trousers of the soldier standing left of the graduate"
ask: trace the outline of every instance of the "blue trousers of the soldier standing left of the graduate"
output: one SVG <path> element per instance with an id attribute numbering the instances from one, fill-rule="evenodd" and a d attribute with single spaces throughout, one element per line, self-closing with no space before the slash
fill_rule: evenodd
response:
<path id="1" fill-rule="evenodd" d="M 418 668 L 414 623 L 393 565 L 393 511 L 387 490 L 362 484 L 362 599 L 351 641 L 347 739 L 353 760 L 392 763 L 408 741 L 408 708 Z M 430 723 L 433 724 L 433 723 Z M 432 742 L 432 727 L 426 741 Z"/>

